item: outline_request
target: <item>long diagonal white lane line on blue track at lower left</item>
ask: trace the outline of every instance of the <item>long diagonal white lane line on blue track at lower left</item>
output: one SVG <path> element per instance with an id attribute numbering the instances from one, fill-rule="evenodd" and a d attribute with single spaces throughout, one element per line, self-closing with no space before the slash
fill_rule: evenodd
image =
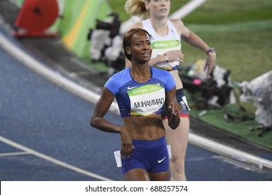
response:
<path id="1" fill-rule="evenodd" d="M 71 170 L 73 170 L 73 171 L 77 171 L 78 173 L 82 173 L 82 174 L 84 174 L 84 175 L 86 175 L 86 176 L 90 176 L 90 177 L 92 177 L 92 178 L 96 178 L 96 179 L 98 179 L 98 180 L 103 180 L 103 181 L 112 181 L 112 180 L 110 180 L 109 178 L 105 178 L 105 177 L 103 177 L 103 176 L 98 176 L 98 175 L 96 175 L 95 173 L 91 173 L 91 172 L 89 172 L 89 171 L 85 171 L 85 170 L 83 170 L 83 169 L 77 168 L 76 166 L 72 166 L 72 165 L 70 165 L 70 164 L 67 164 L 66 162 L 62 162 L 62 161 L 60 161 L 60 160 L 58 160 L 58 159 L 54 159 L 54 158 L 52 158 L 52 157 L 50 157 L 50 156 L 44 155 L 44 154 L 42 154 L 42 153 L 38 153 L 36 150 L 32 150 L 32 149 L 30 149 L 30 148 L 27 148 L 27 147 L 25 147 L 25 146 L 22 146 L 22 145 L 20 145 L 19 143 L 15 143 L 14 141 L 11 141 L 11 140 L 6 139 L 6 138 L 4 138 L 4 137 L 1 137 L 1 136 L 0 136 L 0 141 L 2 141 L 3 143 L 8 144 L 8 145 L 10 145 L 10 146 L 13 146 L 13 147 L 15 147 L 15 148 L 18 148 L 18 149 L 20 149 L 20 150 L 23 150 L 23 151 L 25 151 L 25 152 L 27 152 L 27 153 L 30 153 L 31 155 L 35 155 L 35 156 L 40 157 L 40 158 L 42 158 L 42 159 L 46 159 L 47 161 L 53 162 L 54 164 L 58 164 L 58 165 L 63 166 L 63 167 L 65 167 L 65 168 L 67 168 L 67 169 L 71 169 Z"/>

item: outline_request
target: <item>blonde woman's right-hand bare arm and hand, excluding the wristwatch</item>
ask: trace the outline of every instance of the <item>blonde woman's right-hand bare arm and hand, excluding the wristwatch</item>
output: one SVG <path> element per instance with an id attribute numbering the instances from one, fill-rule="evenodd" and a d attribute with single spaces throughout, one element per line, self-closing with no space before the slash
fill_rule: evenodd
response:
<path id="1" fill-rule="evenodd" d="M 209 45 L 207 45 L 202 38 L 190 31 L 181 20 L 174 20 L 173 23 L 176 26 L 176 30 L 180 33 L 181 39 L 185 40 L 185 42 L 187 42 L 189 45 L 201 49 L 203 52 L 205 52 L 205 54 L 209 51 L 211 47 L 209 47 Z M 206 78 L 209 77 L 215 65 L 216 52 L 209 52 L 207 54 L 206 64 L 203 69 L 205 71 L 206 68 L 208 68 Z"/>

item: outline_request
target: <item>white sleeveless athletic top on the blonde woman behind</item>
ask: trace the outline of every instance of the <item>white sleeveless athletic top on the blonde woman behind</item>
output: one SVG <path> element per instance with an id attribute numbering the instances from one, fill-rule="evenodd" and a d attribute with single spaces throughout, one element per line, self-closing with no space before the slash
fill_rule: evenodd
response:
<path id="1" fill-rule="evenodd" d="M 143 29 L 148 31 L 151 35 L 151 45 L 153 49 L 151 59 L 163 55 L 168 51 L 175 49 L 181 50 L 181 38 L 171 20 L 167 20 L 168 34 L 165 36 L 160 36 L 154 31 L 150 19 L 143 20 L 142 25 Z M 161 62 L 156 65 L 156 68 L 168 71 L 176 70 L 179 68 L 179 61 Z"/>

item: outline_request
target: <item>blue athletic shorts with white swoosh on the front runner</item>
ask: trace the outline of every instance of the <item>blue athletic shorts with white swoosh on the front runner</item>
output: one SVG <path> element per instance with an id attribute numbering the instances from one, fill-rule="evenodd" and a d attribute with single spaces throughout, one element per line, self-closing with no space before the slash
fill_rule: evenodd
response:
<path id="1" fill-rule="evenodd" d="M 169 170 L 169 155 L 165 137 L 152 141 L 133 139 L 133 151 L 129 157 L 122 157 L 123 175 L 131 169 L 145 169 L 148 173 Z"/>

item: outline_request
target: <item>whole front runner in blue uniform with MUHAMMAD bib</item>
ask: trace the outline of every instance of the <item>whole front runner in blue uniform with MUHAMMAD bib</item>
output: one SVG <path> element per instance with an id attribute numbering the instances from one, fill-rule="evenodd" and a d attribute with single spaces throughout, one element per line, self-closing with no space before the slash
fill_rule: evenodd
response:
<path id="1" fill-rule="evenodd" d="M 169 126 L 179 126 L 181 106 L 176 85 L 166 70 L 149 66 L 151 38 L 144 29 L 131 29 L 123 37 L 131 67 L 114 74 L 103 88 L 90 118 L 92 127 L 121 136 L 121 162 L 125 180 L 168 180 L 169 154 L 161 111 L 167 107 Z M 116 98 L 123 125 L 104 118 Z"/>

